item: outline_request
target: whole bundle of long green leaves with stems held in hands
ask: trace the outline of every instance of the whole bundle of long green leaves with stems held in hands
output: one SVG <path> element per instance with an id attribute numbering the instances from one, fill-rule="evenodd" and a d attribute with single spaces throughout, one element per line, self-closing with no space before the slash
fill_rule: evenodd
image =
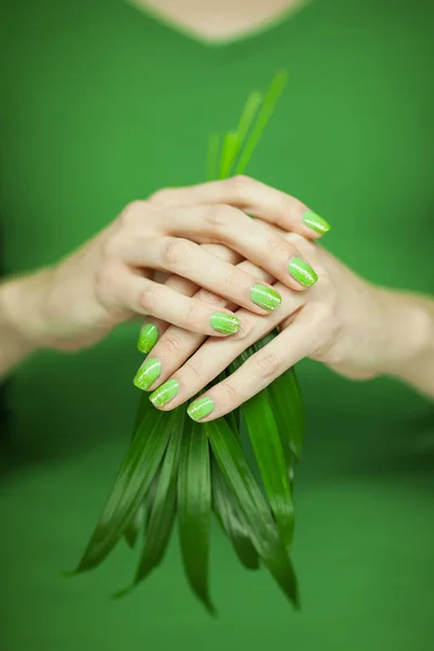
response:
<path id="1" fill-rule="evenodd" d="M 279 72 L 265 97 L 248 98 L 235 131 L 208 144 L 208 179 L 243 174 L 284 87 Z M 240 367 L 277 332 L 245 350 L 215 380 Z M 163 562 L 175 524 L 187 579 L 209 612 L 209 533 L 214 513 L 242 565 L 263 565 L 298 605 L 291 562 L 294 532 L 293 473 L 304 434 L 294 369 L 235 411 L 197 423 L 187 406 L 158 411 L 143 394 L 133 435 L 113 490 L 75 573 L 97 567 L 124 537 L 141 546 L 131 585 Z"/>

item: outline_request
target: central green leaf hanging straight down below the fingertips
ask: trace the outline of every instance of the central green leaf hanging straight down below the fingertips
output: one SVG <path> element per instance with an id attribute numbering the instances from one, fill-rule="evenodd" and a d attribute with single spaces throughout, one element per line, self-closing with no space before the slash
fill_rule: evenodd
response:
<path id="1" fill-rule="evenodd" d="M 179 540 L 186 576 L 210 613 L 208 595 L 209 514 L 212 507 L 208 439 L 187 419 L 178 475 Z"/>

